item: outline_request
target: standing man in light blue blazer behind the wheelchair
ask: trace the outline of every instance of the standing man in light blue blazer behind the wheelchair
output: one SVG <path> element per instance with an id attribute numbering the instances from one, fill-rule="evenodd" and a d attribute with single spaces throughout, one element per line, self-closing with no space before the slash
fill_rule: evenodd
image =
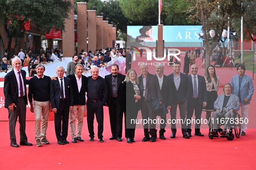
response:
<path id="1" fill-rule="evenodd" d="M 250 76 L 244 74 L 245 66 L 243 64 L 239 64 L 237 66 L 237 76 L 233 76 L 231 79 L 231 86 L 233 88 L 233 93 L 236 94 L 239 98 L 239 104 L 241 107 L 241 115 L 243 120 L 248 119 L 249 112 L 249 104 L 250 100 L 252 100 L 253 96 L 253 80 Z M 245 131 L 247 129 L 247 124 L 242 124 L 242 136 L 245 135 Z"/>

